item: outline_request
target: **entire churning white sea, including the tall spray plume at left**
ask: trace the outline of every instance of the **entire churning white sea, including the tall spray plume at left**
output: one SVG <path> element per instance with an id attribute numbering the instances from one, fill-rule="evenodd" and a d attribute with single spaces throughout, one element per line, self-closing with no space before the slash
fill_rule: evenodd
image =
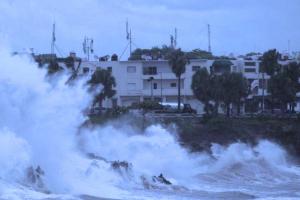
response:
<path id="1" fill-rule="evenodd" d="M 277 144 L 190 153 L 159 124 L 143 132 L 122 122 L 79 128 L 92 100 L 86 80 L 49 80 L 30 58 L 3 48 L 0 58 L 0 199 L 300 197 L 300 169 Z M 127 167 L 113 167 L 122 161 Z M 38 167 L 33 183 L 28 169 Z M 161 173 L 172 185 L 153 181 Z"/>

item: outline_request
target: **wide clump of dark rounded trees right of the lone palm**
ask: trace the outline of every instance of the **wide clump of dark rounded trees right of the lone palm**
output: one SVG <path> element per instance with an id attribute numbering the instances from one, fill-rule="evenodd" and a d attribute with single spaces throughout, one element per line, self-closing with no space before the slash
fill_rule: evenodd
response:
<path id="1" fill-rule="evenodd" d="M 222 102 L 227 116 L 230 116 L 231 104 L 235 104 L 237 113 L 240 113 L 241 101 L 248 95 L 248 82 L 241 73 L 209 74 L 202 68 L 193 75 L 191 89 L 195 97 L 204 104 L 207 114 L 218 114 L 219 104 Z M 214 108 L 211 102 L 214 103 Z"/>

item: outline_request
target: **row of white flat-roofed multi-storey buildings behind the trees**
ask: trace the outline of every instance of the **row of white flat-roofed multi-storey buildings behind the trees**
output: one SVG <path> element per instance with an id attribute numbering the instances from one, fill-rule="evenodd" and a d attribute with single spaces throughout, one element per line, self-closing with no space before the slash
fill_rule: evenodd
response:
<path id="1" fill-rule="evenodd" d="M 243 73 L 249 81 L 251 94 L 248 100 L 261 98 L 262 86 L 267 88 L 267 80 L 270 78 L 260 72 L 260 61 L 236 59 L 230 60 L 233 65 L 232 72 Z M 191 90 L 192 76 L 200 68 L 206 68 L 209 72 L 214 60 L 196 59 L 190 60 L 186 71 L 181 77 L 182 102 L 190 104 L 198 113 L 203 113 L 203 105 L 194 98 Z M 280 64 L 287 64 L 288 61 L 280 61 Z M 111 70 L 116 79 L 116 95 L 111 100 L 103 103 L 105 107 L 114 105 L 130 106 L 133 103 L 145 100 L 157 100 L 160 102 L 177 102 L 177 78 L 172 72 L 167 60 L 137 60 L 137 61 L 83 61 L 81 72 L 92 75 L 97 68 Z M 264 91 L 268 95 L 267 90 Z M 258 102 L 261 107 L 261 101 Z M 300 108 L 300 104 L 297 104 Z"/>

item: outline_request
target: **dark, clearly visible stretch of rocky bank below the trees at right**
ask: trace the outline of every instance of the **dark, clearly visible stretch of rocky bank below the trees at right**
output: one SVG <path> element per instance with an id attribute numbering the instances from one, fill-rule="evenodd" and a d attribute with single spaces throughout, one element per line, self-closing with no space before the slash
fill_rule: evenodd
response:
<path id="1" fill-rule="evenodd" d="M 281 145 L 300 160 L 300 121 L 297 119 L 214 118 L 198 122 L 174 120 L 172 123 L 178 127 L 182 145 L 191 151 L 207 151 L 212 143 L 225 146 L 234 142 L 256 145 L 258 141 L 266 139 Z"/>

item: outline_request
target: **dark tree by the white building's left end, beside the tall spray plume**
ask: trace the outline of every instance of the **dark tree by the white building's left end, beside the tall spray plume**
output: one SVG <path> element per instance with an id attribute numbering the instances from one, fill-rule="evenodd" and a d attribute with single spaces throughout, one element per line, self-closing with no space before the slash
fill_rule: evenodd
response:
<path id="1" fill-rule="evenodd" d="M 94 97 L 93 106 L 99 103 L 102 107 L 102 102 L 105 98 L 111 98 L 115 95 L 116 91 L 113 89 L 116 86 L 115 78 L 111 72 L 106 69 L 97 69 L 91 79 L 88 81 L 91 90 L 95 90 L 100 85 L 102 86 L 100 92 Z"/>

